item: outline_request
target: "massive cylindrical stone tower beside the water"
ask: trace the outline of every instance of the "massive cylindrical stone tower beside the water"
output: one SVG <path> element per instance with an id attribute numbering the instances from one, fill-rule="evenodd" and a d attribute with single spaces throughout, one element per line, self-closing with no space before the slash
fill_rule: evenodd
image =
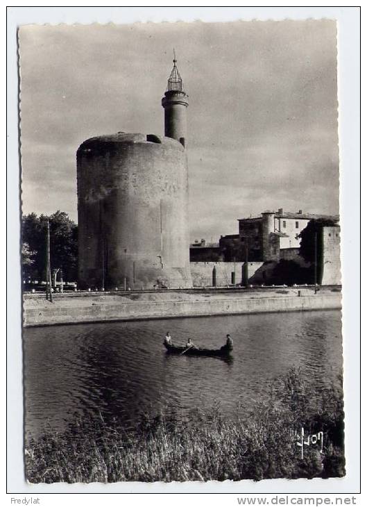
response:
<path id="1" fill-rule="evenodd" d="M 176 106 L 172 135 L 119 132 L 80 145 L 80 288 L 191 287 L 187 156 L 185 141 L 173 136 L 185 131 Z"/>

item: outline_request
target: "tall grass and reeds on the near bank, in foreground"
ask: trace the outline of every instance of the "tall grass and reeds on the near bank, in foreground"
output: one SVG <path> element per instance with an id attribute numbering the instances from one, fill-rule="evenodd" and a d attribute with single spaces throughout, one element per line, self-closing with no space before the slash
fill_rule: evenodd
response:
<path id="1" fill-rule="evenodd" d="M 31 483 L 343 476 L 342 400 L 341 385 L 315 400 L 293 368 L 273 381 L 266 404 L 250 413 L 239 406 L 231 421 L 218 406 L 185 417 L 142 415 L 130 431 L 116 421 L 77 419 L 63 433 L 26 442 L 26 476 Z M 294 432 L 302 427 L 306 435 L 323 431 L 322 454 L 305 445 L 301 459 Z"/>

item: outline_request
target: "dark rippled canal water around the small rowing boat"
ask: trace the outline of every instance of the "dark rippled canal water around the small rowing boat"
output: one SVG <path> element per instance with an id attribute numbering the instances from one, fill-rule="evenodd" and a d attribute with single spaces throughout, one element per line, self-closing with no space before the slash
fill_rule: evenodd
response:
<path id="1" fill-rule="evenodd" d="M 232 361 L 167 356 L 162 340 L 191 338 L 218 348 L 234 339 Z M 262 399 L 266 383 L 301 366 L 315 390 L 341 372 L 341 313 L 269 313 L 112 322 L 24 331 L 26 431 L 62 429 L 75 413 L 117 417 L 128 426 L 142 410 L 210 408 L 230 417 L 237 401 Z"/>

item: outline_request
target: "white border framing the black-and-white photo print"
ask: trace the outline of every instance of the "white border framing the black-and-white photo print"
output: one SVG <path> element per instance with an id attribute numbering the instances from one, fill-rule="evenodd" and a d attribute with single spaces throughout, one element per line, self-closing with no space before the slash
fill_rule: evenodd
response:
<path id="1" fill-rule="evenodd" d="M 19 153 L 17 111 L 17 26 L 132 22 L 226 22 L 243 19 L 336 19 L 339 54 L 339 147 L 343 230 L 343 356 L 345 372 L 346 460 L 343 479 L 283 479 L 225 483 L 115 483 L 28 485 L 23 476 L 21 287 L 19 277 Z M 8 8 L 8 492 L 36 497 L 53 493 L 350 493 L 359 490 L 359 10 L 351 7 L 12 7 Z M 5 185 L 4 185 L 5 186 Z M 5 365 L 4 369 L 5 371 Z M 53 496 L 53 495 L 52 495 Z M 49 495 L 44 499 L 49 498 Z M 84 495 L 83 495 L 84 497 Z M 83 502 L 78 496 L 76 501 Z M 135 495 L 134 495 L 135 497 Z M 131 503 L 135 502 L 131 497 Z M 85 497 L 84 497 L 85 498 Z M 137 499 L 137 497 L 135 497 Z M 144 496 L 142 502 L 151 501 Z M 154 498 L 153 497 L 153 501 Z M 172 499 L 177 503 L 178 497 Z M 226 497 L 212 497 L 222 504 Z M 69 497 L 64 497 L 69 501 Z M 70 498 L 71 499 L 71 498 Z M 186 501 L 204 497 L 186 497 Z M 200 500 L 201 499 L 201 500 Z M 104 498 L 96 495 L 93 504 Z M 125 501 L 125 500 L 124 500 Z M 44 501 L 42 501 L 44 503 Z M 90 501 L 89 501 L 90 503 Z"/>

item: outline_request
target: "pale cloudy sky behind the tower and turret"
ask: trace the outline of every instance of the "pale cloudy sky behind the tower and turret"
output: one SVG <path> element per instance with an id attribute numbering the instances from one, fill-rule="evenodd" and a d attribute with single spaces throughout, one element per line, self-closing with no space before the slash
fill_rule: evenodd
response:
<path id="1" fill-rule="evenodd" d="M 339 213 L 336 23 L 19 28 L 23 213 L 77 222 L 76 150 L 164 133 L 173 47 L 189 95 L 190 240 L 264 210 Z"/>

